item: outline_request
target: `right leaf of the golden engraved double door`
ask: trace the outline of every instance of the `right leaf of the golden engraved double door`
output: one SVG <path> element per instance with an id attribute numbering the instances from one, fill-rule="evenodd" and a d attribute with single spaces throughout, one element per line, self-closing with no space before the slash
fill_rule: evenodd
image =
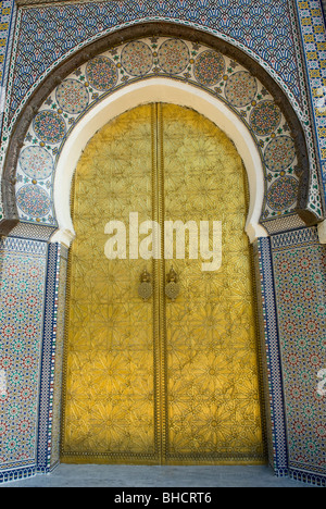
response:
<path id="1" fill-rule="evenodd" d="M 222 221 L 223 231 L 218 271 L 202 271 L 200 256 L 173 260 L 180 294 L 165 307 L 166 455 L 171 461 L 260 461 L 242 162 L 226 135 L 192 110 L 164 104 L 162 123 L 165 219 Z"/>

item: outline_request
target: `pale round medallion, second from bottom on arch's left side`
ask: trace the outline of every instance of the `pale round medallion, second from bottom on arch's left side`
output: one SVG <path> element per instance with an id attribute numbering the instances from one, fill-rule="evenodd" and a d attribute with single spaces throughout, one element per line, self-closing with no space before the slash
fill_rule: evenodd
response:
<path id="1" fill-rule="evenodd" d="M 53 171 L 53 160 L 42 147 L 26 147 L 20 157 L 23 172 L 30 178 L 47 178 Z"/>

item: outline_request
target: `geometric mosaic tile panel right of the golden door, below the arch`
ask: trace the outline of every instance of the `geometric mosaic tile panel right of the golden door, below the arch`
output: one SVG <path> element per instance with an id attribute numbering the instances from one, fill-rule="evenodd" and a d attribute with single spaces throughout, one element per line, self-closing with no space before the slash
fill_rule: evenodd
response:
<path id="1" fill-rule="evenodd" d="M 316 228 L 305 228 L 272 237 L 272 252 L 289 470 L 325 484 L 326 249 Z"/>

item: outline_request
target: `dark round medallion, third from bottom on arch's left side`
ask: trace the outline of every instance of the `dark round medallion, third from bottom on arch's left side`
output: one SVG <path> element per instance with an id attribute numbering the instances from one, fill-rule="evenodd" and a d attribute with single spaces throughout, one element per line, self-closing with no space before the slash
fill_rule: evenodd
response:
<path id="1" fill-rule="evenodd" d="M 42 110 L 34 119 L 33 128 L 36 136 L 46 144 L 59 144 L 65 135 L 65 123 L 59 113 Z"/>

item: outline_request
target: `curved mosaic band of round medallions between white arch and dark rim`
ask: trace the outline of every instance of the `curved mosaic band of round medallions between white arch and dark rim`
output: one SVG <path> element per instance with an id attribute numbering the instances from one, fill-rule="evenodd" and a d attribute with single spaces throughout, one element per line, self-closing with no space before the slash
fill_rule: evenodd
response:
<path id="1" fill-rule="evenodd" d="M 294 142 L 268 90 L 238 62 L 203 45 L 151 37 L 97 55 L 71 73 L 43 101 L 18 159 L 16 198 L 22 221 L 55 225 L 55 163 L 72 128 L 98 101 L 150 76 L 195 84 L 224 101 L 251 132 L 262 154 L 266 195 L 262 220 L 294 215 L 299 185 Z M 40 172 L 42 161 L 46 164 Z"/>

